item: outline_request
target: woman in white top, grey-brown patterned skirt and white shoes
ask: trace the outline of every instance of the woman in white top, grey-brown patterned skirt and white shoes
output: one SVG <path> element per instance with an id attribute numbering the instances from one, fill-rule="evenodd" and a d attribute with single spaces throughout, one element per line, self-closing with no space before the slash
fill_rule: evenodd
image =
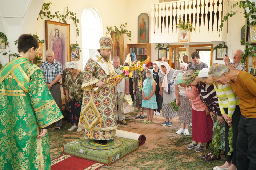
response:
<path id="1" fill-rule="evenodd" d="M 179 122 L 181 123 L 181 128 L 176 133 L 184 133 L 184 135 L 189 135 L 188 127 L 189 124 L 192 123 L 192 107 L 188 97 L 186 96 L 186 91 L 184 88 L 186 86 L 182 83 L 183 73 L 184 72 L 182 70 L 177 70 L 173 74 L 176 104 L 179 106 Z"/>

